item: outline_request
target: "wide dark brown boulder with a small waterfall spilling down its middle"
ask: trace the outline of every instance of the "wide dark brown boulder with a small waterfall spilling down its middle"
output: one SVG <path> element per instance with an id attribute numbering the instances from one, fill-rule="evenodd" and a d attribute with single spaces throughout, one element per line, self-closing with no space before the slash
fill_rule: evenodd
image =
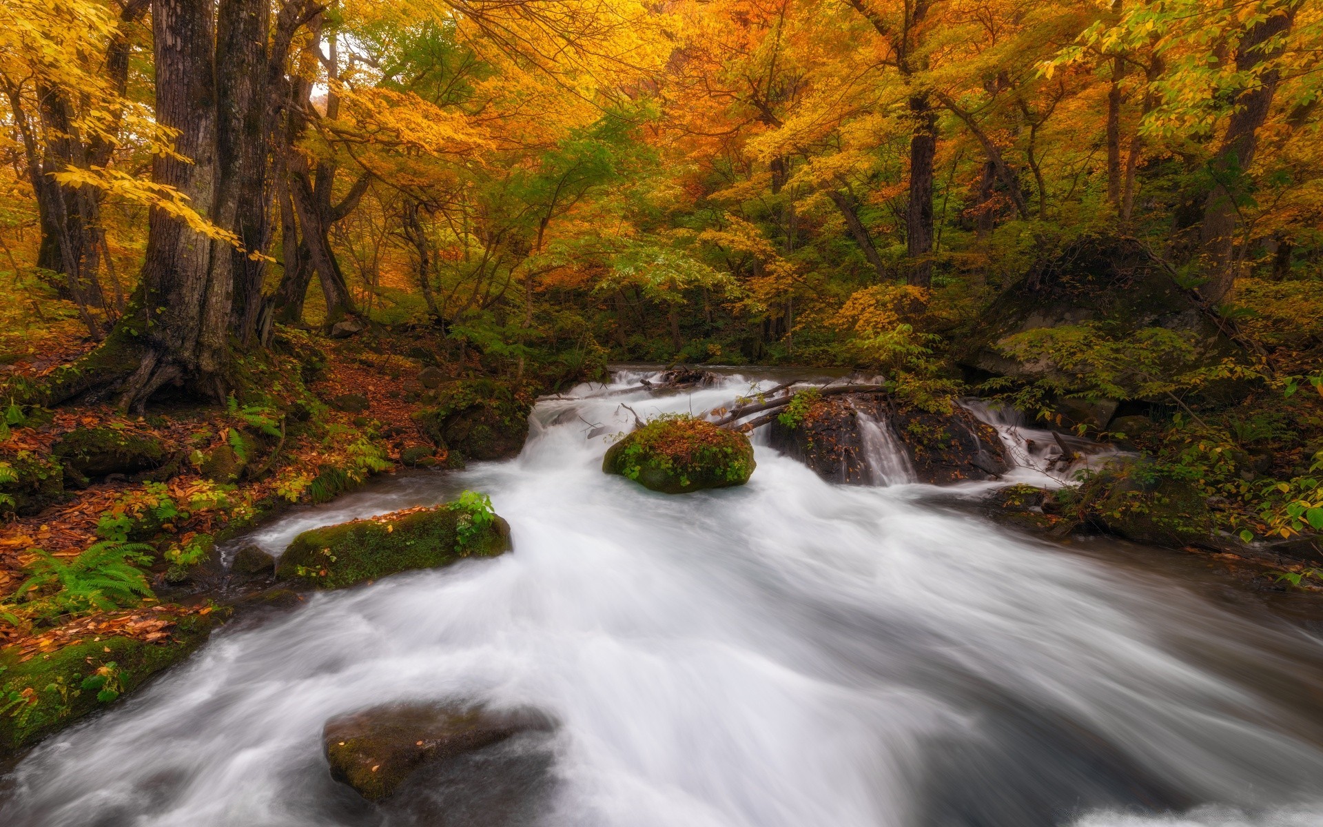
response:
<path id="1" fill-rule="evenodd" d="M 933 413 L 888 394 L 841 394 L 816 400 L 798 421 L 787 418 L 773 419 L 771 446 L 833 483 L 867 486 L 882 482 L 881 474 L 949 484 L 1007 470 L 996 430 L 959 406 Z M 875 467 L 878 458 L 869 460 L 871 450 L 886 447 L 877 441 L 889 441 L 904 453 L 893 457 L 890 474 Z"/>

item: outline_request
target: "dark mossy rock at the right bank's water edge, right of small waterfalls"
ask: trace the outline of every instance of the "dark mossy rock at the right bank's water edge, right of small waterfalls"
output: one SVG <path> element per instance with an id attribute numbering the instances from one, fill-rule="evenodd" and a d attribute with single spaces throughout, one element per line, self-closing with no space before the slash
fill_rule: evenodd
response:
<path id="1" fill-rule="evenodd" d="M 1113 463 L 1073 496 L 1090 523 L 1129 540 L 1188 545 L 1208 541 L 1213 533 L 1204 492 L 1147 463 Z"/>

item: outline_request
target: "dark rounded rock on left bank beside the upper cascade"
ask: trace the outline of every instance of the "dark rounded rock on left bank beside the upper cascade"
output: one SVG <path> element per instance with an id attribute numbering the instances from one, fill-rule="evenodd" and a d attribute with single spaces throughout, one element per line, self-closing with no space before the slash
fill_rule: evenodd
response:
<path id="1" fill-rule="evenodd" d="M 463 459 L 507 459 L 523 450 L 533 396 L 527 388 L 490 378 L 448 382 L 433 392 L 435 405 L 414 414 L 437 447 Z"/>

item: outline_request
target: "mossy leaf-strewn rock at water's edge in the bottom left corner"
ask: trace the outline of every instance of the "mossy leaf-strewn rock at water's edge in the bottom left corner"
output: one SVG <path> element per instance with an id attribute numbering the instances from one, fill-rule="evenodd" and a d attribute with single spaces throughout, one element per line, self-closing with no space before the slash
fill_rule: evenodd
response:
<path id="1" fill-rule="evenodd" d="M 17 647 L 0 651 L 0 758 L 114 703 L 179 663 L 206 640 L 226 613 L 173 617 L 177 625 L 156 642 L 126 636 L 82 639 L 28 660 Z"/>

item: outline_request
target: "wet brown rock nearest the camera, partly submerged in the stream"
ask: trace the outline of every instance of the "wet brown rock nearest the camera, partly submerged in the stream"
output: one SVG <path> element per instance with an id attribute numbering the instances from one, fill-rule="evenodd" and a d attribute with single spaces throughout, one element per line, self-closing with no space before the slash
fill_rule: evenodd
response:
<path id="1" fill-rule="evenodd" d="M 376 707 L 327 721 L 331 775 L 368 801 L 389 798 L 427 763 L 458 758 L 553 721 L 532 709 L 496 712 L 431 704 Z"/>

